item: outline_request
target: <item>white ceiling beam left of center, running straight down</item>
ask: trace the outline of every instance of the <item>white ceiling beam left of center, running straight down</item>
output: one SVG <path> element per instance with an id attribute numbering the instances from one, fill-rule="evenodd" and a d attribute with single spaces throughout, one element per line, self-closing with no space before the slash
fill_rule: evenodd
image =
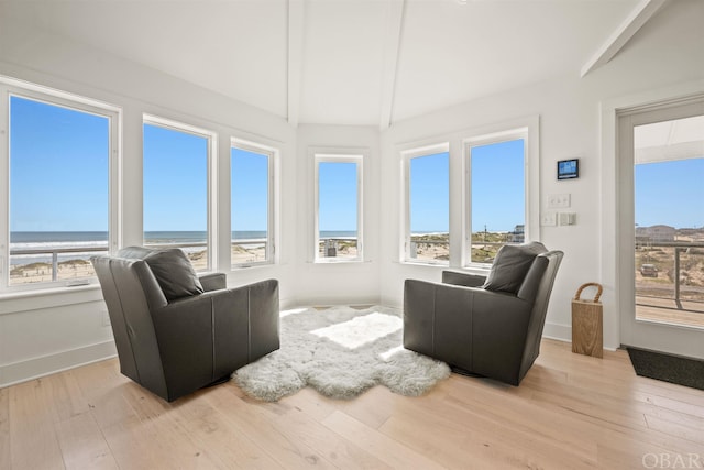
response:
<path id="1" fill-rule="evenodd" d="M 287 99 L 288 123 L 298 127 L 300 94 L 302 87 L 304 33 L 306 22 L 305 0 L 288 0 L 288 69 Z"/>

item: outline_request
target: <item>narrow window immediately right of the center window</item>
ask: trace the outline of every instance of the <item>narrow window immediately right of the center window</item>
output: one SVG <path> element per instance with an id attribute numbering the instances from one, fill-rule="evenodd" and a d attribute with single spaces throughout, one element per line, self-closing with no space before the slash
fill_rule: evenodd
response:
<path id="1" fill-rule="evenodd" d="M 448 144 L 404 152 L 405 261 L 449 264 L 450 152 Z"/>

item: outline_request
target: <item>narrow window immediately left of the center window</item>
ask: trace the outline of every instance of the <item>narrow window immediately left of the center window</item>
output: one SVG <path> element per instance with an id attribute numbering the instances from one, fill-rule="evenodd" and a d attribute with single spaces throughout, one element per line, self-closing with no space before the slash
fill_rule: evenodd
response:
<path id="1" fill-rule="evenodd" d="M 230 220 L 232 267 L 274 262 L 275 151 L 232 140 Z"/>

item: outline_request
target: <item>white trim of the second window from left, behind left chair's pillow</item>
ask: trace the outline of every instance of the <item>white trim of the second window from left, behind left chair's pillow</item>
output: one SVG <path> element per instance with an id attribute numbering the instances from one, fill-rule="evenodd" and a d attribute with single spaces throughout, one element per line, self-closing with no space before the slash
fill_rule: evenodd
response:
<path id="1" fill-rule="evenodd" d="M 218 133 L 208 129 L 199 128 L 197 125 L 187 124 L 180 121 L 174 121 L 170 119 L 162 118 L 154 114 L 142 114 L 142 125 L 150 124 L 164 129 L 170 129 L 177 132 L 185 132 L 194 135 L 198 135 L 208 140 L 208 188 L 207 188 L 207 201 L 208 201 L 208 266 L 206 271 L 216 271 L 218 267 Z M 142 155 L 144 159 L 144 155 Z M 144 198 L 142 197 L 142 209 L 144 209 Z M 143 219 L 144 217 L 142 217 Z M 142 229 L 142 237 L 144 237 L 144 229 Z"/>

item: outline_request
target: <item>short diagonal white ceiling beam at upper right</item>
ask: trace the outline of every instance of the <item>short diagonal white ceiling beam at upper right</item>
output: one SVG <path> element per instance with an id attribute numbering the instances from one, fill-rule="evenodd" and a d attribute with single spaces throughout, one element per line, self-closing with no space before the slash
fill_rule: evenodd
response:
<path id="1" fill-rule="evenodd" d="M 614 58 L 628 41 L 670 0 L 641 0 L 626 20 L 612 33 L 600 50 L 582 67 L 582 78 Z"/>

